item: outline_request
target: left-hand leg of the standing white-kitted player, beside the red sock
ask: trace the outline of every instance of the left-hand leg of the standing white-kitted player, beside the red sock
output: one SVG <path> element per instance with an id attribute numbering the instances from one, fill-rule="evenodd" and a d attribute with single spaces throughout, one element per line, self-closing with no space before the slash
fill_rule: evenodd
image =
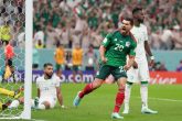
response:
<path id="1" fill-rule="evenodd" d="M 130 95 L 131 95 L 131 87 L 132 84 L 138 80 L 138 69 L 130 68 L 127 72 L 127 84 L 125 89 L 125 107 L 122 113 L 127 114 L 129 113 L 129 101 L 130 101 Z"/>

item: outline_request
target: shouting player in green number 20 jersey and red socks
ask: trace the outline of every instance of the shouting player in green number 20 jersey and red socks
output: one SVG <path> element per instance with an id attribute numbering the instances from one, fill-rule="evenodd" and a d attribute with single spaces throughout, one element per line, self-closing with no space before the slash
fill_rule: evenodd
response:
<path id="1" fill-rule="evenodd" d="M 108 34 L 104 38 L 99 47 L 101 66 L 96 74 L 95 80 L 86 85 L 85 88 L 75 97 L 73 102 L 75 107 L 79 105 L 85 95 L 88 95 L 100 87 L 103 81 L 111 74 L 118 85 L 118 92 L 116 95 L 116 103 L 111 118 L 124 119 L 119 116 L 119 109 L 125 99 L 125 84 L 127 81 L 126 70 L 128 70 L 135 62 L 135 48 L 137 46 L 136 42 L 129 34 L 132 24 L 132 19 L 126 18 L 122 20 L 122 25 L 118 31 Z M 128 63 L 126 61 L 127 55 L 130 57 Z"/>

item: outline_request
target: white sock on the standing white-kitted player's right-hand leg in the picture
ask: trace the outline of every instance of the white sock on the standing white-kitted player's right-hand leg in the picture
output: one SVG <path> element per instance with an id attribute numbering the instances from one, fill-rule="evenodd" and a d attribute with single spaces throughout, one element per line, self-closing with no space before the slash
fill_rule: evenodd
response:
<path id="1" fill-rule="evenodd" d="M 142 108 L 148 108 L 148 85 L 141 85 L 140 87 Z"/>

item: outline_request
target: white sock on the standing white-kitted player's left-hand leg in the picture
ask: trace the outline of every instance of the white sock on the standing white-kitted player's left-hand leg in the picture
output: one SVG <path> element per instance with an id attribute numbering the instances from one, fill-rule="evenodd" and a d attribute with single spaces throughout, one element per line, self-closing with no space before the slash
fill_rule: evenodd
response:
<path id="1" fill-rule="evenodd" d="M 131 95 L 131 85 L 126 84 L 125 105 L 127 105 L 127 106 L 129 106 L 130 95 Z"/>

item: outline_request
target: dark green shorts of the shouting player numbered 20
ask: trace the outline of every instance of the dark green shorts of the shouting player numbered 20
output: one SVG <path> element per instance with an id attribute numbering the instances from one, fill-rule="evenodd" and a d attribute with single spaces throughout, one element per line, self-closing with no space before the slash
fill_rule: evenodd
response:
<path id="1" fill-rule="evenodd" d="M 110 74 L 115 77 L 115 80 L 118 80 L 120 77 L 127 78 L 127 74 L 122 66 L 115 67 L 109 65 L 101 65 L 96 74 L 96 78 L 105 80 Z"/>

